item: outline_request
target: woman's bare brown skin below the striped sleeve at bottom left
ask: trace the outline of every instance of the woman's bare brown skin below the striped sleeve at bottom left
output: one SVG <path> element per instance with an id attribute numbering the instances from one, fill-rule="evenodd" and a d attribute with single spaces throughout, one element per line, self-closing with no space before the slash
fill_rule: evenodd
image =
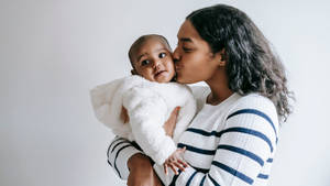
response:
<path id="1" fill-rule="evenodd" d="M 141 153 L 132 155 L 128 161 L 128 167 L 130 168 L 128 186 L 163 186 L 146 155 Z"/>

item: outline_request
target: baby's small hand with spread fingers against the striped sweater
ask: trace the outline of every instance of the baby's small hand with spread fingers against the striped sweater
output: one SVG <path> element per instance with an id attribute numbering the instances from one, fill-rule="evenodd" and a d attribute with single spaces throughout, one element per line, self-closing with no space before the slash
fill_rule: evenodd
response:
<path id="1" fill-rule="evenodd" d="M 169 157 L 166 158 L 164 163 L 164 172 L 167 175 L 167 167 L 169 167 L 176 175 L 178 174 L 177 168 L 185 171 L 188 164 L 184 161 L 183 155 L 186 147 L 177 149 Z"/>

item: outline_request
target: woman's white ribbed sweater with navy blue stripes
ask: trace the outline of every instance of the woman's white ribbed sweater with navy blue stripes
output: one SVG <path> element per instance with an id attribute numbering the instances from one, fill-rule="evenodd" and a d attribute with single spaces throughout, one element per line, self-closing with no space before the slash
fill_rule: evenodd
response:
<path id="1" fill-rule="evenodd" d="M 267 185 L 278 138 L 274 103 L 257 94 L 231 95 L 217 106 L 206 103 L 209 88 L 193 88 L 199 112 L 179 139 L 190 165 L 178 175 L 162 175 L 165 185 L 264 186 Z M 124 139 L 109 146 L 108 162 L 127 179 L 127 162 L 140 152 Z M 157 171 L 158 169 L 158 171 Z M 165 176 L 165 178 L 164 178 Z"/>

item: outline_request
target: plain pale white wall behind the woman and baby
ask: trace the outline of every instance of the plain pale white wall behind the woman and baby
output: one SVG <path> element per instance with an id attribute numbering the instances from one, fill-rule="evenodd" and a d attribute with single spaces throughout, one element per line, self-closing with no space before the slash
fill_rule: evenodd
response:
<path id="1" fill-rule="evenodd" d="M 175 47 L 185 17 L 218 2 L 254 20 L 296 94 L 270 185 L 330 185 L 326 0 L 1 0 L 0 185 L 125 185 L 107 164 L 113 135 L 96 120 L 89 90 L 130 74 L 138 36 L 163 34 Z"/>

